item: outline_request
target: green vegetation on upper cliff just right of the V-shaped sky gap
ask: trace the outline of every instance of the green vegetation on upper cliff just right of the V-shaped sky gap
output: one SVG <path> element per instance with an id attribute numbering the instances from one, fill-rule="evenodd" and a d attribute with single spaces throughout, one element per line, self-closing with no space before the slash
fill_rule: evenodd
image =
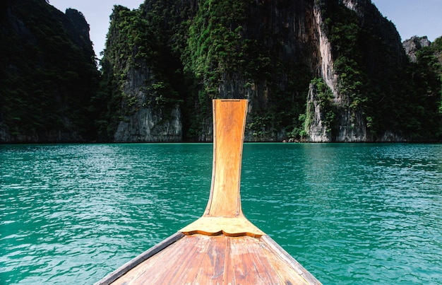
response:
<path id="1" fill-rule="evenodd" d="M 181 14 L 169 16 L 174 8 L 169 2 L 150 1 L 133 11 L 114 6 L 101 61 L 104 83 L 97 100 L 104 103 L 99 107 L 104 117 L 97 121 L 101 139 L 112 139 L 118 122 L 141 107 L 161 109 L 167 115 L 172 107 L 184 102 L 185 79 L 177 53 L 181 50 L 178 40 L 182 39 L 173 35 L 173 30 L 179 32 L 184 25 Z M 125 87 L 129 76 L 136 73 L 145 76 L 141 79 L 147 95 L 143 101 Z"/>

